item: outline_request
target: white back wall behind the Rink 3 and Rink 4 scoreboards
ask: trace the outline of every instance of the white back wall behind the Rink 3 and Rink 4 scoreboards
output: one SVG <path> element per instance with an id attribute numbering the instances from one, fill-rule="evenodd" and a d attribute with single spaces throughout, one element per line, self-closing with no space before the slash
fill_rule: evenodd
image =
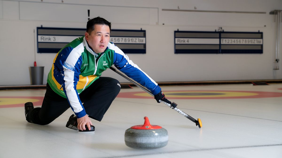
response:
<path id="1" fill-rule="evenodd" d="M 196 7 L 266 14 L 162 11 L 178 6 L 181 10 Z M 112 22 L 113 29 L 146 30 L 146 54 L 128 55 L 156 82 L 282 78 L 282 55 L 280 69 L 273 70 L 275 23 L 269 14 L 282 10 L 281 0 L 0 0 L 0 85 L 30 84 L 28 67 L 35 59 L 38 66 L 45 66 L 46 84 L 56 54 L 34 53 L 34 29 L 41 25 L 86 28 L 87 9 L 90 18 L 104 17 Z M 175 30 L 214 31 L 218 27 L 224 31 L 260 30 L 263 54 L 174 54 Z M 111 70 L 103 76 L 128 82 Z"/>

